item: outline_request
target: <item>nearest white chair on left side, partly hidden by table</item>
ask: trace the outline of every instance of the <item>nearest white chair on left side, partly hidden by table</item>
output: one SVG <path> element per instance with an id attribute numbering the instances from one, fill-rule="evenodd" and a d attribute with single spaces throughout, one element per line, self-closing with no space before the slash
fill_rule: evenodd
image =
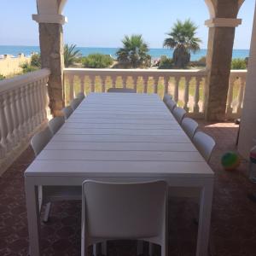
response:
<path id="1" fill-rule="evenodd" d="M 40 131 L 32 137 L 31 145 L 34 154 L 38 156 L 44 147 L 49 143 L 53 134 L 47 126 L 44 131 Z M 81 200 L 82 187 L 79 186 L 43 186 L 38 187 L 39 212 L 41 206 L 46 204 L 44 211 L 44 222 L 49 219 L 51 202 L 53 201 L 68 201 Z"/>

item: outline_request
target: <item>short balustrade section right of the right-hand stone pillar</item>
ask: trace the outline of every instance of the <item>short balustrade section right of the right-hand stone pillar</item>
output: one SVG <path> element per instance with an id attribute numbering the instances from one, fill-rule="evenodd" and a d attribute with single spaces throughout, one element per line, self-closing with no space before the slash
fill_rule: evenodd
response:
<path id="1" fill-rule="evenodd" d="M 231 70 L 230 72 L 230 87 L 226 108 L 227 119 L 238 119 L 241 117 L 246 77 L 247 70 Z"/>

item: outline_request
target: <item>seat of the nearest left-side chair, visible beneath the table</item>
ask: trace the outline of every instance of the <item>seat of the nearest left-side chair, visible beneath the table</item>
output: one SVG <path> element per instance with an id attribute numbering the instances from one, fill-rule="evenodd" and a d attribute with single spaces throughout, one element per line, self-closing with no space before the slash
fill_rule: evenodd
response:
<path id="1" fill-rule="evenodd" d="M 44 203 L 82 200 L 82 186 L 43 186 Z"/>

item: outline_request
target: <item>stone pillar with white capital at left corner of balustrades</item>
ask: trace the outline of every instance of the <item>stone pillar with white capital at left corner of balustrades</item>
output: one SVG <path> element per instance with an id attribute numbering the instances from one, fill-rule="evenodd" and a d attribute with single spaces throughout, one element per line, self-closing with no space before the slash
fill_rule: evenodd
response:
<path id="1" fill-rule="evenodd" d="M 49 16 L 33 15 L 33 20 L 39 23 L 42 67 L 47 67 L 50 70 L 48 82 L 49 108 L 54 116 L 58 116 L 65 104 L 62 24 L 66 20 L 62 15 L 50 15 L 50 19 Z"/>

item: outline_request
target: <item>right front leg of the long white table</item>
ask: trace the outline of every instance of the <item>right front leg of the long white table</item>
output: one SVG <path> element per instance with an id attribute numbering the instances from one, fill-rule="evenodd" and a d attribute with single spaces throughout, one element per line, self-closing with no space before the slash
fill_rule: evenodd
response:
<path id="1" fill-rule="evenodd" d="M 212 213 L 212 192 L 213 181 L 209 181 L 201 190 L 196 256 L 208 255 Z"/>

